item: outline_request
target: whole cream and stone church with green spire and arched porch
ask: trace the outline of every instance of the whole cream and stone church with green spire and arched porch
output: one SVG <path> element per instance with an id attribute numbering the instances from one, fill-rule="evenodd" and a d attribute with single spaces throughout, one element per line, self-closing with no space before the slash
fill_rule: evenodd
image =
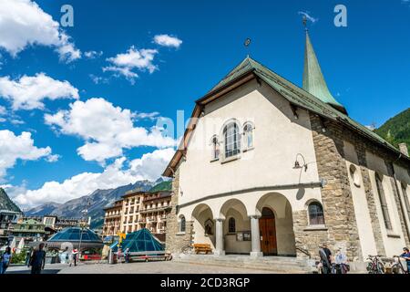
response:
<path id="1" fill-rule="evenodd" d="M 166 249 L 350 262 L 409 246 L 410 158 L 334 99 L 306 31 L 302 88 L 246 57 L 195 101 L 163 175 Z M 365 105 L 364 105 L 365 106 Z"/>

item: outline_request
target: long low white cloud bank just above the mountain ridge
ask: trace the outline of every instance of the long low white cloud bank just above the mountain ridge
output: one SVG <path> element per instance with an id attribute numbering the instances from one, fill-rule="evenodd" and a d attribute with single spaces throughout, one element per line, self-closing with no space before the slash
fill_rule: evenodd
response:
<path id="1" fill-rule="evenodd" d="M 65 203 L 97 189 L 111 189 L 140 180 L 155 181 L 161 175 L 174 151 L 163 149 L 144 154 L 124 169 L 125 158 L 119 158 L 108 165 L 103 172 L 82 172 L 63 183 L 47 182 L 37 190 L 8 185 L 10 196 L 22 207 L 34 207 L 41 203 Z"/>

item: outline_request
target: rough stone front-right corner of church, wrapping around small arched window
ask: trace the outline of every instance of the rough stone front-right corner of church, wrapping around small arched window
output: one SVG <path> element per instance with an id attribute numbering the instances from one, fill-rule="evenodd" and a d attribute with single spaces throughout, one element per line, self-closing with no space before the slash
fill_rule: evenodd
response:
<path id="1" fill-rule="evenodd" d="M 327 182 L 321 191 L 327 230 L 309 230 L 306 228 L 307 214 L 293 213 L 297 248 L 305 249 L 316 257 L 318 245 L 325 242 L 331 250 L 342 247 L 349 258 L 356 260 L 362 252 L 348 171 L 343 159 L 343 128 L 312 114 L 311 127 L 319 177 Z M 300 250 L 297 252 L 305 256 Z"/>

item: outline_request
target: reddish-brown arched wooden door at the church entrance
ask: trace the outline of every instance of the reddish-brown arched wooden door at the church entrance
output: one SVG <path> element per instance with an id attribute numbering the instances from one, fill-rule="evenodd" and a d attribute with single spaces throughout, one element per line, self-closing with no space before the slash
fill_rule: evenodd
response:
<path id="1" fill-rule="evenodd" d="M 262 208 L 261 219 L 259 219 L 259 229 L 261 235 L 261 252 L 263 255 L 278 255 L 275 214 L 270 208 Z"/>

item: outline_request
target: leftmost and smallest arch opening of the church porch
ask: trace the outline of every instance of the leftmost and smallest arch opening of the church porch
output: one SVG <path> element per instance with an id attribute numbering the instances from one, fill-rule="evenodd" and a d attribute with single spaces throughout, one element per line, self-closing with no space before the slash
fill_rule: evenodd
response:
<path id="1" fill-rule="evenodd" d="M 215 248 L 215 220 L 210 206 L 200 203 L 195 206 L 191 214 L 193 228 L 193 242 L 195 244 L 209 244 Z"/>

